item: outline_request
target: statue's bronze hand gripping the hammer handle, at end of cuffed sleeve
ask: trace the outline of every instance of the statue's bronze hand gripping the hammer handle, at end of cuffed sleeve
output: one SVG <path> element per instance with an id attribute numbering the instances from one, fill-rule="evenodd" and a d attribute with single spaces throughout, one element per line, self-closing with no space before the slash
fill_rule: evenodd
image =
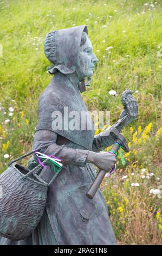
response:
<path id="1" fill-rule="evenodd" d="M 94 163 L 106 172 L 109 172 L 116 162 L 116 156 L 108 152 L 94 153 L 93 151 L 89 151 L 88 155 L 87 162 Z"/>

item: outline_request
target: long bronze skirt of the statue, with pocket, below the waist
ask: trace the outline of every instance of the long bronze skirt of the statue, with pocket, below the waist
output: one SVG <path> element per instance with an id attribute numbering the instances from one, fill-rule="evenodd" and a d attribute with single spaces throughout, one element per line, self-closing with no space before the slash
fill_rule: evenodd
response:
<path id="1" fill-rule="evenodd" d="M 99 143 L 100 137 L 96 137 L 96 140 Z M 35 142 L 34 147 L 42 145 L 41 142 Z M 69 148 L 83 149 L 73 142 L 67 143 L 66 139 L 62 140 L 63 143 Z M 61 157 L 61 152 L 58 157 Z M 43 168 L 40 175 L 50 181 L 53 167 Z M 95 176 L 91 163 L 86 163 L 84 167 L 64 165 L 49 186 L 46 208 L 33 233 L 20 241 L 1 236 L 0 245 L 116 245 L 100 188 L 93 199 L 86 197 Z"/>

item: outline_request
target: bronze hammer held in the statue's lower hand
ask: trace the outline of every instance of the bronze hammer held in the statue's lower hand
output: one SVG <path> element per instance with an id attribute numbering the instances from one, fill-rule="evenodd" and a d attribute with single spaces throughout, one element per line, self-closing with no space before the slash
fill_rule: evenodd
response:
<path id="1" fill-rule="evenodd" d="M 116 140 L 116 142 L 113 144 L 111 151 L 117 153 L 119 147 L 121 146 L 125 152 L 129 152 L 129 147 L 128 147 L 126 138 L 124 136 L 122 136 L 121 133 L 114 127 L 111 129 L 110 133 Z M 112 172 L 112 170 L 110 171 L 110 173 L 111 172 Z M 93 181 L 88 192 L 86 193 L 86 196 L 89 199 L 93 199 L 93 197 L 95 196 L 95 193 L 98 190 L 106 173 L 107 173 L 106 170 L 102 170 L 102 169 L 99 170 L 98 174 L 96 175 L 95 180 Z"/>

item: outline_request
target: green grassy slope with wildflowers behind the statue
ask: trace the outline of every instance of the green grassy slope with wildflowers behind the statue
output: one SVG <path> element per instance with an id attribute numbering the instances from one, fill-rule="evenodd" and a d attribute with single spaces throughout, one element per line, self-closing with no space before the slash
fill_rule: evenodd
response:
<path id="1" fill-rule="evenodd" d="M 0 57 L 0 172 L 7 168 L 9 160 L 31 150 L 34 128 L 37 124 L 38 98 L 51 80 L 51 75 L 47 74 L 47 67 L 50 63 L 44 56 L 43 39 L 48 32 L 54 29 L 83 24 L 88 26 L 88 35 L 92 41 L 94 53 L 99 58 L 92 77 L 92 84 L 82 94 L 89 110 L 111 111 L 111 124 L 113 124 L 118 120 L 122 111 L 122 91 L 132 89 L 139 105 L 138 119 L 131 124 L 134 132 L 139 125 L 145 129 L 148 124 L 152 123 L 152 130 L 149 132 L 146 145 L 140 143 L 134 145 L 130 126 L 125 127 L 123 134 L 132 143 L 131 150 L 133 147 L 139 150 L 142 148 L 142 150 L 138 155 L 131 153 L 126 167 L 121 166 L 119 162 L 117 177 L 109 182 L 108 189 L 107 185 L 103 184 L 106 200 L 109 200 L 108 198 L 112 197 L 113 193 L 117 193 L 116 200 L 120 200 L 120 203 L 124 200 L 125 194 L 130 198 L 130 204 L 141 197 L 140 202 L 145 204 L 140 207 L 142 214 L 146 209 L 150 209 L 149 214 L 150 212 L 152 214 L 150 219 L 154 219 L 157 223 L 156 228 L 152 230 L 146 218 L 143 218 L 146 231 L 154 232 L 154 235 L 147 237 L 141 232 L 142 239 L 139 240 L 135 228 L 133 235 L 131 233 L 132 223 L 126 225 L 122 223 L 123 219 L 120 220 L 119 202 L 115 203 L 112 200 L 111 220 L 115 234 L 119 242 L 126 244 L 158 244 L 161 242 L 160 222 L 152 210 L 154 207 L 161 214 L 160 203 L 156 204 L 156 200 L 159 199 L 154 196 L 151 203 L 148 202 L 150 188 L 160 185 L 160 181 L 151 179 L 149 182 L 144 182 L 145 189 L 139 188 L 138 190 L 136 187 L 137 193 L 134 194 L 130 184 L 128 187 L 124 186 L 124 183 L 119 180 L 120 174 L 129 173 L 132 177 L 131 172 L 134 171 L 137 173 L 138 180 L 142 168 L 146 168 L 147 172 L 153 172 L 155 177 L 159 177 L 161 170 L 161 140 L 155 139 L 155 133 L 161 126 L 162 117 L 162 57 L 157 56 L 158 45 L 162 44 L 162 1 L 157 1 L 157 4 L 153 2 L 154 7 L 151 3 L 144 5 L 146 3 L 142 0 L 0 2 L 0 44 L 3 46 L 3 55 Z M 106 51 L 109 46 L 113 48 Z M 111 78 L 108 79 L 108 77 Z M 118 95 L 109 95 L 108 92 L 111 89 L 116 90 Z M 135 93 L 135 90 L 139 92 Z M 14 108 L 12 116 L 8 115 L 9 107 Z M 4 123 L 6 119 L 10 119 L 8 124 Z M 8 141 L 9 145 L 5 147 Z M 9 159 L 4 159 L 4 154 L 9 154 Z M 134 162 L 135 167 L 132 166 Z M 27 160 L 24 160 L 24 163 L 26 164 Z M 129 178 L 130 182 L 131 179 Z M 117 192 L 114 192 L 113 185 L 119 186 Z M 131 207 L 129 206 L 129 211 L 135 211 L 133 204 Z M 118 223 L 113 218 L 115 211 L 119 213 Z M 147 212 L 145 213 L 147 215 Z M 133 216 L 129 216 L 129 220 L 133 220 Z M 140 223 L 142 222 L 139 217 L 136 226 L 138 227 Z"/>

